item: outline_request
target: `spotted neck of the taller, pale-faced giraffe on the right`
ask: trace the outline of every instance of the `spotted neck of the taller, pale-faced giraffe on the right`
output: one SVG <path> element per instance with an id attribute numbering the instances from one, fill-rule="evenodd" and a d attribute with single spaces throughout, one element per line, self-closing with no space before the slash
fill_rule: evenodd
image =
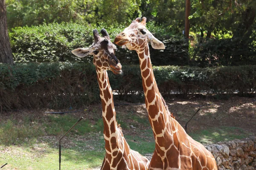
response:
<path id="1" fill-rule="evenodd" d="M 141 51 L 137 51 L 140 60 L 140 70 L 142 76 L 143 90 L 145 94 L 145 105 L 148 111 L 148 119 L 151 124 L 154 138 L 157 143 L 160 137 L 164 137 L 164 133 L 173 133 L 175 127 L 175 119 L 169 115 L 163 102 L 162 96 L 155 81 L 148 45 Z M 167 129 L 167 130 L 166 130 Z M 165 143 L 172 144 L 174 139 L 167 138 Z M 162 146 L 165 144 L 163 143 Z"/>

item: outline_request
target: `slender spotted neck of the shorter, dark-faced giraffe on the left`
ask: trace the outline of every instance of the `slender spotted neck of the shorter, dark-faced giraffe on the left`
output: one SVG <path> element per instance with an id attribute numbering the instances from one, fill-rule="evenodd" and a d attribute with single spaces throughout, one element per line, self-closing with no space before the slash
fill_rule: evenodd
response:
<path id="1" fill-rule="evenodd" d="M 111 154 L 113 153 L 113 149 L 117 148 L 118 145 L 118 126 L 116 123 L 116 111 L 113 104 L 113 94 L 109 84 L 107 71 L 102 71 L 96 68 L 96 72 L 102 102 L 105 149 L 107 153 Z"/>

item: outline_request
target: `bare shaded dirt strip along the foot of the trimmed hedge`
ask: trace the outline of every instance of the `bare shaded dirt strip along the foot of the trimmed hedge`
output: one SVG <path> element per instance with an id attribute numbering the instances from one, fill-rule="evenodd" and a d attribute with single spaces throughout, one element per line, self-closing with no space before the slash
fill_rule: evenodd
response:
<path id="1" fill-rule="evenodd" d="M 117 121 L 121 124 L 123 133 L 126 135 L 137 135 L 137 131 L 131 127 L 140 127 L 140 129 L 150 128 L 147 123 L 148 114 L 145 104 L 128 103 L 122 101 L 114 101 L 117 115 Z M 211 127 L 239 127 L 253 135 L 256 135 L 256 98 L 231 97 L 230 99 L 169 99 L 166 101 L 169 105 L 169 110 L 174 114 L 177 121 L 185 127 L 186 122 L 200 108 L 200 111 L 188 123 L 188 133 L 193 133 L 198 130 Z M 95 123 L 101 119 L 102 108 L 101 104 L 90 105 L 77 110 L 86 110 L 76 113 L 67 113 Z M 43 118 L 49 113 L 44 111 L 57 110 L 23 110 L 19 111 L 2 111 L 0 119 L 22 119 L 26 115 L 34 115 L 35 117 Z M 62 110 L 64 111 L 64 110 Z M 66 110 L 67 111 L 67 110 Z M 129 119 L 127 119 L 129 118 Z M 133 118 L 140 119 L 134 121 Z M 126 126 L 122 125 L 125 124 Z M 138 132 L 140 133 L 140 132 Z"/>

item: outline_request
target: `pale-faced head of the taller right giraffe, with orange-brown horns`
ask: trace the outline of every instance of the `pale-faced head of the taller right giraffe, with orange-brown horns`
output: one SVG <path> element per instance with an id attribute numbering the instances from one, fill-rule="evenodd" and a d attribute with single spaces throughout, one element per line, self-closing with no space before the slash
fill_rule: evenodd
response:
<path id="1" fill-rule="evenodd" d="M 146 17 L 136 18 L 130 26 L 116 36 L 114 43 L 136 51 L 144 49 L 148 42 L 154 49 L 165 49 L 163 42 L 157 40 L 146 28 L 146 20 Z"/>

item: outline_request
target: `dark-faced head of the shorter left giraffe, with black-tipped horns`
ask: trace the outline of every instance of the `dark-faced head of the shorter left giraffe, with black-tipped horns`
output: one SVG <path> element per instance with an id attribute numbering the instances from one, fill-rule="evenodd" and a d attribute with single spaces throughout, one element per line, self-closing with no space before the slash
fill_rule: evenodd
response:
<path id="1" fill-rule="evenodd" d="M 99 32 L 93 30 L 94 42 L 89 48 L 76 48 L 71 52 L 77 57 L 85 57 L 93 55 L 93 64 L 99 70 L 111 70 L 114 74 L 122 73 L 122 65 L 115 56 L 116 45 L 114 45 L 108 32 L 102 28 L 100 31 L 103 37 L 99 36 Z"/>

